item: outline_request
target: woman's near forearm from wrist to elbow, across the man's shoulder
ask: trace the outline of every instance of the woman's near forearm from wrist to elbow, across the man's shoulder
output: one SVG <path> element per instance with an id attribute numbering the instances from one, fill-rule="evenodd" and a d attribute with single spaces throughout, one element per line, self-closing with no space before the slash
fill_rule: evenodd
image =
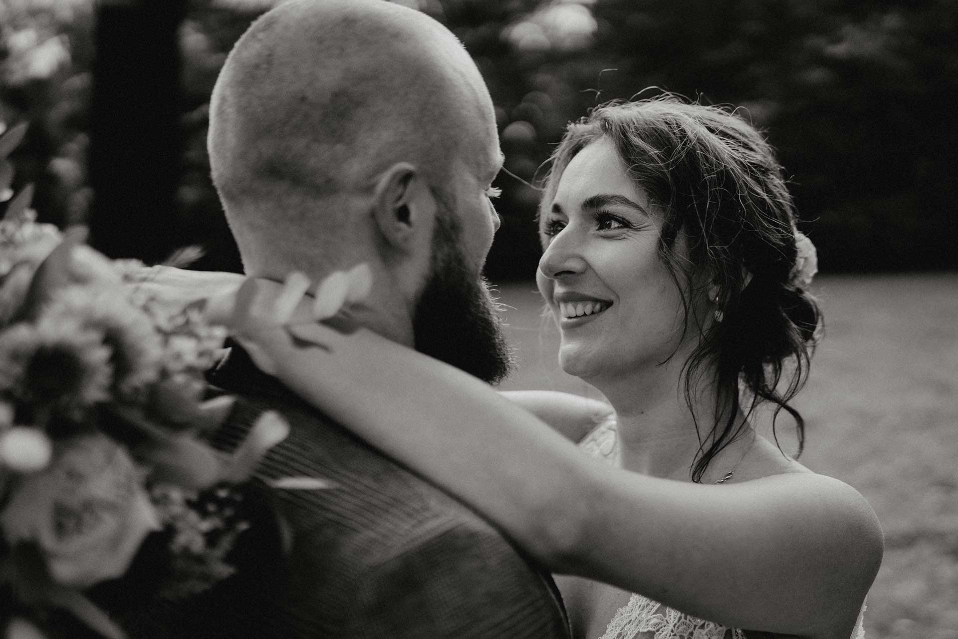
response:
<path id="1" fill-rule="evenodd" d="M 270 345 L 276 376 L 539 561 L 564 565 L 591 501 L 585 469 L 601 464 L 475 377 L 369 331 L 326 334 L 322 352 L 283 338 Z"/>

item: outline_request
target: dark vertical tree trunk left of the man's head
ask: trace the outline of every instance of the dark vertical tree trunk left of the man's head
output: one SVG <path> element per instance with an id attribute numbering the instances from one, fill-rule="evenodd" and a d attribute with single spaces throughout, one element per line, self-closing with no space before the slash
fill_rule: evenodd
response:
<path id="1" fill-rule="evenodd" d="M 99 0 L 90 241 L 114 258 L 170 254 L 182 156 L 177 29 L 186 0 Z"/>

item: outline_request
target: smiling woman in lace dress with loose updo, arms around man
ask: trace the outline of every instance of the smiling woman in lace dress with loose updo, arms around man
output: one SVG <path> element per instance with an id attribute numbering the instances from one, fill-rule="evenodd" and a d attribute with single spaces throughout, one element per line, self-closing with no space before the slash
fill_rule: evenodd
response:
<path id="1" fill-rule="evenodd" d="M 307 299 L 273 312 L 302 285 L 247 281 L 234 328 L 304 399 L 566 575 L 576 636 L 861 636 L 875 514 L 753 429 L 770 404 L 801 442 L 789 401 L 819 325 L 813 247 L 764 137 L 672 99 L 596 108 L 553 155 L 539 234 L 559 363 L 611 407 L 496 393 L 371 331 L 304 322 Z M 599 423 L 593 454 L 534 413 Z"/>

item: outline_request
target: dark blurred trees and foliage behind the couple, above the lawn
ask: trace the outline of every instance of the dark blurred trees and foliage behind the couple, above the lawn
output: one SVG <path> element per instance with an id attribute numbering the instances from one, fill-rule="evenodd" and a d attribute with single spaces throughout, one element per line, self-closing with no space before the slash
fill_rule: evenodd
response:
<path id="1" fill-rule="evenodd" d="M 201 267 L 239 267 L 209 183 L 207 101 L 226 53 L 268 4 L 191 0 L 180 29 L 187 150 L 171 224 L 182 243 L 209 247 Z M 504 223 L 493 280 L 534 272 L 537 192 L 524 181 L 542 176 L 566 123 L 596 103 L 661 90 L 741 105 L 767 130 L 826 270 L 958 267 L 958 3 L 402 4 L 445 23 L 475 57 L 496 103 L 506 168 L 521 178 L 498 180 Z M 94 18 L 91 0 L 0 0 L 0 121 L 32 122 L 13 158 L 17 175 L 37 182 L 36 208 L 60 223 L 86 179 Z"/>

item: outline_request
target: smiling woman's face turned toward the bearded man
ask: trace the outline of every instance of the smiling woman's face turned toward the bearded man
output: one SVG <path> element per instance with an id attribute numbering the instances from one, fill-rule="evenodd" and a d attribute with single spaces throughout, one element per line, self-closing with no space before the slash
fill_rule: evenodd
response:
<path id="1" fill-rule="evenodd" d="M 566 373 L 594 379 L 651 370 L 679 345 L 681 296 L 657 251 L 663 219 L 607 137 L 563 171 L 539 222 L 536 282 L 559 325 Z M 678 255 L 683 244 L 680 234 Z"/>

